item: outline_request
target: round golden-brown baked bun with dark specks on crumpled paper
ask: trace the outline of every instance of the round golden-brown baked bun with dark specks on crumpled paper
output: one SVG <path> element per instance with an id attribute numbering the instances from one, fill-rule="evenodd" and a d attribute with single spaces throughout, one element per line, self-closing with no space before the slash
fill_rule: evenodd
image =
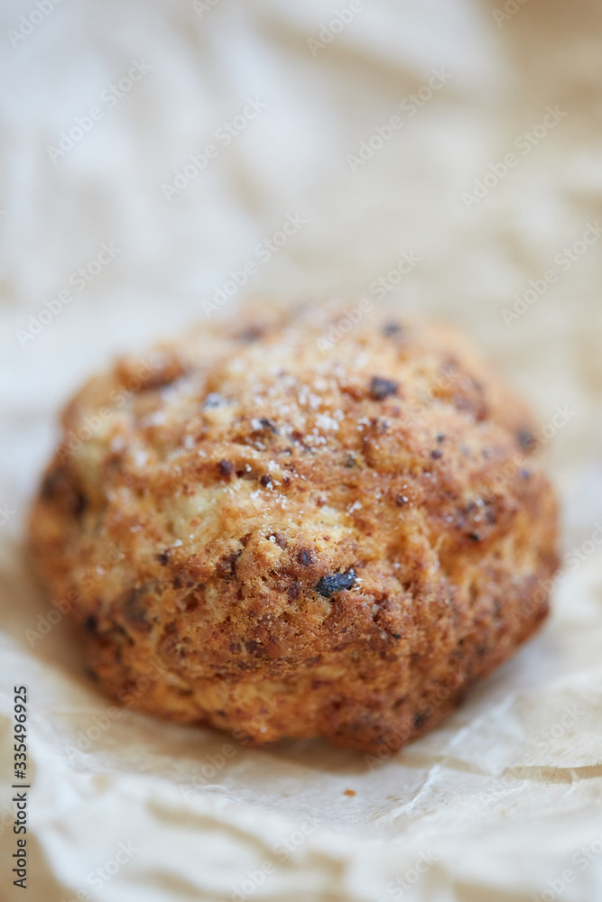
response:
<path id="1" fill-rule="evenodd" d="M 446 327 L 370 313 L 329 345 L 340 318 L 200 327 L 65 410 L 32 549 L 125 704 L 390 751 L 545 617 L 529 412 Z"/>

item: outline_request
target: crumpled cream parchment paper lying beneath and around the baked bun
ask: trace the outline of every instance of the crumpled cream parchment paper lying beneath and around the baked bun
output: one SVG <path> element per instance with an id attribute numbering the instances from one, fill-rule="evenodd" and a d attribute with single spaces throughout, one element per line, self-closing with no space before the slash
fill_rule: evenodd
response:
<path id="1" fill-rule="evenodd" d="M 11 0 L 0 17 L 3 898 L 23 897 L 14 685 L 36 902 L 602 898 L 602 9 Z M 79 381 L 262 292 L 465 327 L 538 410 L 559 487 L 550 621 L 382 761 L 113 707 L 23 551 Z"/>

